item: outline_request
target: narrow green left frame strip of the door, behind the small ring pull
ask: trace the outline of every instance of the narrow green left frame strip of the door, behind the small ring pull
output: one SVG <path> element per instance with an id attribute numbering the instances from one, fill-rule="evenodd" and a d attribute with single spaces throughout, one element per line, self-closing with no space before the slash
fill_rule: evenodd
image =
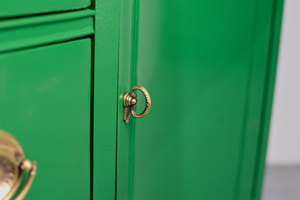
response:
<path id="1" fill-rule="evenodd" d="M 124 123 L 123 95 L 135 85 L 136 61 L 136 5 L 135 0 L 124 0 L 121 3 L 120 48 L 119 48 L 119 85 L 118 85 L 118 124 L 117 124 L 117 184 L 116 199 L 132 198 L 132 176 L 134 159 L 134 122 L 130 117 L 129 124 Z"/>

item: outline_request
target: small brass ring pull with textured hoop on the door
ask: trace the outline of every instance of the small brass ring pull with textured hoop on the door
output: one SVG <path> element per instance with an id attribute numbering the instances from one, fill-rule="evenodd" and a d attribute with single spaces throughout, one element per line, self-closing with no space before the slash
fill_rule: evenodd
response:
<path id="1" fill-rule="evenodd" d="M 146 98 L 146 107 L 145 107 L 144 111 L 140 114 L 136 113 L 133 109 L 136 107 L 136 103 L 137 103 L 137 98 L 136 98 L 137 95 L 134 94 L 135 90 L 140 90 L 145 95 L 145 98 Z M 130 92 L 126 92 L 126 94 L 124 95 L 123 105 L 125 108 L 124 121 L 126 123 L 128 123 L 130 113 L 132 114 L 132 116 L 134 116 L 136 118 L 142 118 L 148 114 L 148 112 L 151 108 L 151 98 L 150 98 L 148 91 L 144 87 L 136 85 L 133 88 L 131 88 Z"/>

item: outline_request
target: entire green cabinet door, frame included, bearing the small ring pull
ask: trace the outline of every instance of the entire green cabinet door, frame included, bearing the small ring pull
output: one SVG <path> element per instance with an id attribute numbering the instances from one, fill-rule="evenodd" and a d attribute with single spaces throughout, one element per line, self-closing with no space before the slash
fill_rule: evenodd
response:
<path id="1" fill-rule="evenodd" d="M 251 199 L 275 1 L 132 2 L 134 17 L 125 5 L 122 17 L 133 28 L 121 27 L 132 41 L 120 40 L 117 199 Z M 125 124 L 121 97 L 134 85 L 152 107 Z"/>

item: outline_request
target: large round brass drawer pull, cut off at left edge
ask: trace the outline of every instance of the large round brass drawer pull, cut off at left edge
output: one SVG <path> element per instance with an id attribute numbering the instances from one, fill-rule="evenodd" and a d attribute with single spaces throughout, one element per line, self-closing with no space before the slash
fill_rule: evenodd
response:
<path id="1" fill-rule="evenodd" d="M 15 200 L 22 200 L 28 193 L 36 174 L 36 162 L 25 159 L 22 147 L 9 133 L 0 130 L 0 199 L 11 200 L 17 192 L 26 171 L 27 181 Z"/>

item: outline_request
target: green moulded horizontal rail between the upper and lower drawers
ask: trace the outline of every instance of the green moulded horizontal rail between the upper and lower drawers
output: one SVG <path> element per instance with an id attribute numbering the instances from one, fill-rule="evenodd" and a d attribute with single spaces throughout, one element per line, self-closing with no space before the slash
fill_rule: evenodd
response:
<path id="1" fill-rule="evenodd" d="M 94 33 L 94 11 L 82 10 L 0 22 L 0 52 L 71 40 Z"/>

